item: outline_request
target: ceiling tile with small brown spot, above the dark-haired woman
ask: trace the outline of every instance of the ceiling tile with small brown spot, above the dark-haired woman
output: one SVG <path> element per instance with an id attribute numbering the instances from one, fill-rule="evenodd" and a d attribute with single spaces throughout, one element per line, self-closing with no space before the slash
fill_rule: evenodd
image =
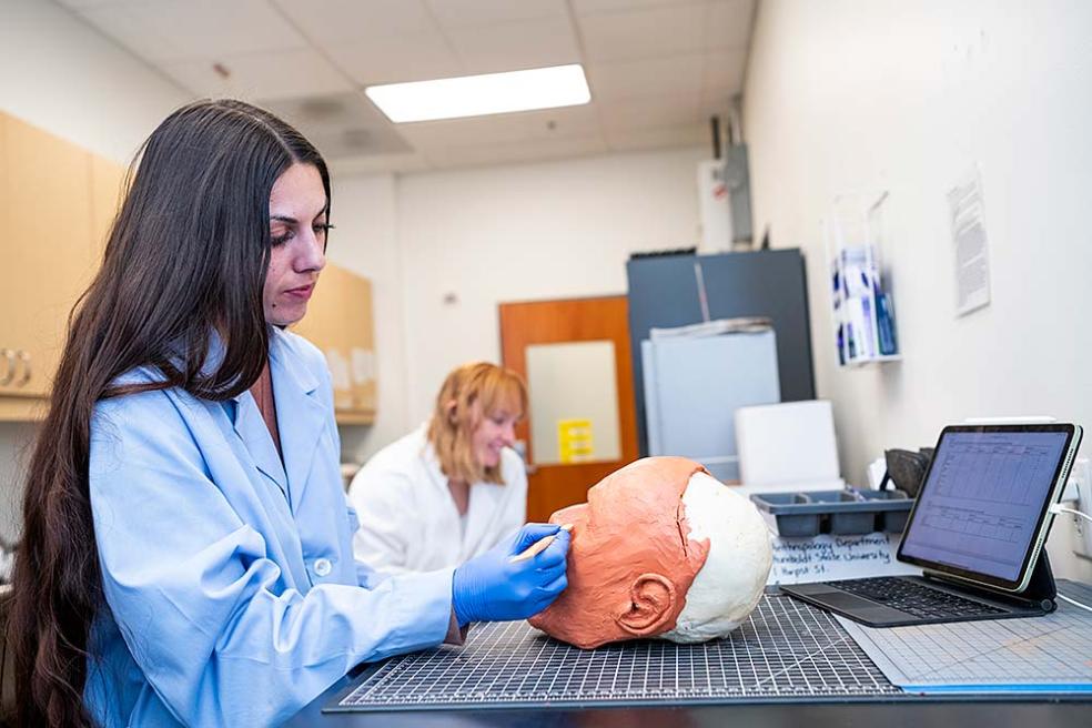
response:
<path id="1" fill-rule="evenodd" d="M 352 91 L 353 84 L 322 55 L 310 49 L 252 53 L 216 61 L 229 72 L 223 78 L 213 61 L 163 65 L 163 71 L 198 95 L 280 99 Z"/>

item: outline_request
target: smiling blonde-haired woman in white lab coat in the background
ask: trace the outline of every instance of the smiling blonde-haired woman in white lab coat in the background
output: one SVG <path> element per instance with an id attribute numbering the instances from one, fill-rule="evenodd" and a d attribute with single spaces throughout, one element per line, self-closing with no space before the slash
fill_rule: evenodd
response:
<path id="1" fill-rule="evenodd" d="M 527 391 L 486 362 L 447 375 L 428 422 L 361 468 L 348 494 L 356 558 L 387 574 L 457 566 L 518 529 L 527 474 L 512 449 Z"/>

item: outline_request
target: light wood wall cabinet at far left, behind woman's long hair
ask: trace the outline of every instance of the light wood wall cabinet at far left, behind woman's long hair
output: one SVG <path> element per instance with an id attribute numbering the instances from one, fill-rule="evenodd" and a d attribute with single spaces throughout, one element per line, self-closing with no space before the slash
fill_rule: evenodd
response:
<path id="1" fill-rule="evenodd" d="M 121 178 L 113 162 L 0 114 L 0 419 L 42 413 Z"/>

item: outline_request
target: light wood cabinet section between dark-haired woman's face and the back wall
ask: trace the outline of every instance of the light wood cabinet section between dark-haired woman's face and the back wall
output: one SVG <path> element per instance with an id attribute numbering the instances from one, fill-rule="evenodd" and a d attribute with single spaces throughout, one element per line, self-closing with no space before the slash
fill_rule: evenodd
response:
<path id="1" fill-rule="evenodd" d="M 318 277 L 307 315 L 295 333 L 322 350 L 334 385 L 334 411 L 341 424 L 375 421 L 375 338 L 372 283 L 327 264 Z"/>

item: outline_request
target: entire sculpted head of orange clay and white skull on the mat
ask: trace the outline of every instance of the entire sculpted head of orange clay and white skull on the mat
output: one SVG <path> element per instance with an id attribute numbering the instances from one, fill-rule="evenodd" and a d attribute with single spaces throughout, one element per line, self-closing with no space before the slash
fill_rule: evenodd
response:
<path id="1" fill-rule="evenodd" d="M 772 564 L 754 505 L 681 457 L 630 463 L 550 522 L 574 526 L 568 588 L 530 624 L 583 648 L 727 635 L 757 606 Z"/>

